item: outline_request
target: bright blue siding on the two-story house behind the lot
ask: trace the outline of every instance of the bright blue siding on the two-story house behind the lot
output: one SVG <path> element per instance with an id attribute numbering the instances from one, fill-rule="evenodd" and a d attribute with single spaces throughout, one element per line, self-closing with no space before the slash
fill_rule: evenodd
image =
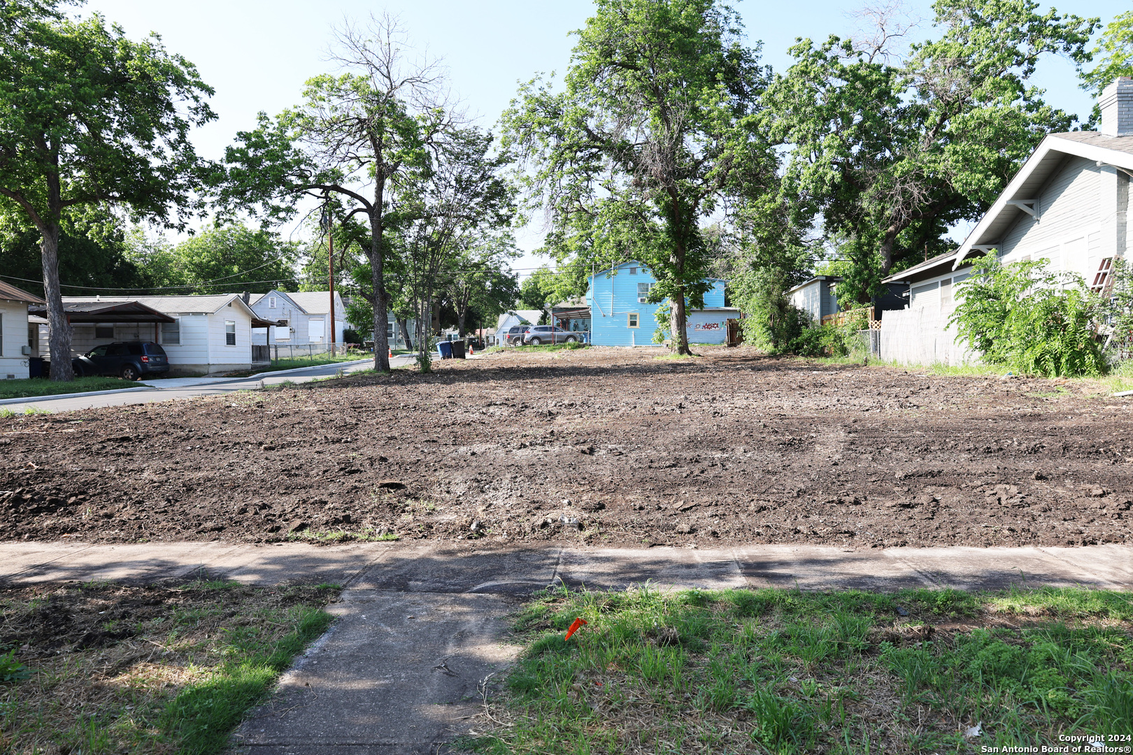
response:
<path id="1" fill-rule="evenodd" d="M 637 273 L 630 275 L 630 268 Z M 590 278 L 586 303 L 590 307 L 590 343 L 598 346 L 648 346 L 657 329 L 656 314 L 661 304 L 638 301 L 639 283 L 656 283 L 640 263 L 619 265 L 615 274 L 598 273 Z M 705 293 L 705 307 L 724 306 L 724 282 L 714 281 Z M 638 327 L 629 326 L 629 316 L 638 316 Z"/>

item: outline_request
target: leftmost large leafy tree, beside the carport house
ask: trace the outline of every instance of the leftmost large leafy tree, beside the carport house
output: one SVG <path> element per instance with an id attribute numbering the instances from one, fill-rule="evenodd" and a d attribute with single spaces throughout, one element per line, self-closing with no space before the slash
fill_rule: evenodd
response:
<path id="1" fill-rule="evenodd" d="M 188 134 L 214 118 L 212 89 L 157 36 L 134 42 L 97 14 L 34 0 L 0 5 L 0 212 L 40 234 L 51 379 L 69 380 L 61 229 L 107 204 L 184 228 L 199 168 Z"/>

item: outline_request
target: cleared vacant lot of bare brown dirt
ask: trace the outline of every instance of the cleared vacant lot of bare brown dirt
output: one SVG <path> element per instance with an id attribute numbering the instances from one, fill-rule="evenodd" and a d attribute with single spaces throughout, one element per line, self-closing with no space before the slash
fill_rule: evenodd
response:
<path id="1" fill-rule="evenodd" d="M 701 352 L 3 419 L 0 538 L 1133 542 L 1133 403 L 1097 384 Z"/>

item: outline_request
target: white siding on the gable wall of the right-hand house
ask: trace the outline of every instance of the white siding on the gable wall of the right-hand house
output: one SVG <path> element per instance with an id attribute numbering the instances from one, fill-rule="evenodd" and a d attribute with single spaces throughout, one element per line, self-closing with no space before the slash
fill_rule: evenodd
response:
<path id="1" fill-rule="evenodd" d="M 1127 186 L 1127 179 L 1122 183 Z M 1050 269 L 1091 277 L 1101 261 L 1101 169 L 1096 161 L 1067 156 L 1033 198 L 1039 216 L 1020 213 L 999 243 L 1000 260 L 1046 258 Z"/>

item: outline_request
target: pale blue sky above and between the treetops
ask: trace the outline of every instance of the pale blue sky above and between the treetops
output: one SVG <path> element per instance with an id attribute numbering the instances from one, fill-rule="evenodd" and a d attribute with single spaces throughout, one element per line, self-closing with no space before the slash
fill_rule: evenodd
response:
<path id="1" fill-rule="evenodd" d="M 852 12 L 863 5 L 749 0 L 735 7 L 749 38 L 763 41 L 764 61 L 782 70 L 791 62 L 787 49 L 795 37 L 849 35 L 858 26 Z M 1055 7 L 1064 14 L 1100 16 L 1106 23 L 1133 9 L 1133 3 L 1071 0 Z M 363 20 L 383 10 L 400 16 L 415 44 L 444 60 L 469 114 L 489 127 L 514 96 L 517 80 L 566 67 L 572 46 L 568 34 L 582 26 L 591 8 L 587 0 L 88 0 L 80 12 L 101 12 L 135 38 L 156 32 L 169 50 L 196 63 L 204 80 L 216 89 L 211 104 L 220 118 L 198 129 L 194 140 L 203 155 L 215 158 L 237 130 L 255 123 L 258 111 L 274 114 L 297 103 L 304 80 L 331 70 L 324 60 L 330 29 L 346 17 Z M 908 2 L 906 8 L 925 18 L 931 16 L 930 3 L 923 0 Z M 925 33 L 929 32 L 926 23 Z M 1092 103 L 1077 88 L 1070 62 L 1045 61 L 1038 84 L 1047 88 L 1053 104 L 1088 115 Z M 529 229 L 519 234 L 519 243 L 534 249 L 540 235 L 538 229 Z M 528 255 L 516 267 L 538 263 Z"/>

